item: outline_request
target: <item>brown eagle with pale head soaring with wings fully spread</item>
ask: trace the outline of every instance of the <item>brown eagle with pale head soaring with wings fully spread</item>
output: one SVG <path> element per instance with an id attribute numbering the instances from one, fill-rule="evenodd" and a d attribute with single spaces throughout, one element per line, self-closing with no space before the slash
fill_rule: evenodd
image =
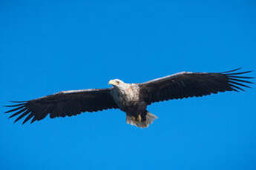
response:
<path id="1" fill-rule="evenodd" d="M 239 68 L 240 69 L 240 68 Z M 58 92 L 30 101 L 12 101 L 7 105 L 13 112 L 9 118 L 19 116 L 23 123 L 31 120 L 79 115 L 82 112 L 97 112 L 104 109 L 120 109 L 126 113 L 126 123 L 145 128 L 156 118 L 147 106 L 154 102 L 201 97 L 226 91 L 244 91 L 253 84 L 244 74 L 252 72 L 178 72 L 140 84 L 126 84 L 114 79 L 107 89 L 80 89 Z"/>

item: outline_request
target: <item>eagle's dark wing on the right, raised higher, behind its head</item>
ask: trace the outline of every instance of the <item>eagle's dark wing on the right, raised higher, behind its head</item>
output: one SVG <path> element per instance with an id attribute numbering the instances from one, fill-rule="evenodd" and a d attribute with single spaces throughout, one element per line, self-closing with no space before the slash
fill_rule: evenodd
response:
<path id="1" fill-rule="evenodd" d="M 200 97 L 217 92 L 244 91 L 241 87 L 252 84 L 245 79 L 252 78 L 240 76 L 248 72 L 208 73 L 208 72 L 178 72 L 163 78 L 148 81 L 140 86 L 141 98 L 148 104 L 170 99 Z"/>

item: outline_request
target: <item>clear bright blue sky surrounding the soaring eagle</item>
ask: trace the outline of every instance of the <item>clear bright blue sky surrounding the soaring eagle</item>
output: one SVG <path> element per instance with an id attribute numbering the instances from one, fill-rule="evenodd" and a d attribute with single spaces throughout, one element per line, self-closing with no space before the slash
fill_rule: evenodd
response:
<path id="1" fill-rule="evenodd" d="M 1 1 L 0 104 L 180 71 L 255 70 L 256 3 Z M 255 76 L 252 72 L 252 76 Z M 22 126 L 0 107 L 0 169 L 256 169 L 256 86 Z"/>

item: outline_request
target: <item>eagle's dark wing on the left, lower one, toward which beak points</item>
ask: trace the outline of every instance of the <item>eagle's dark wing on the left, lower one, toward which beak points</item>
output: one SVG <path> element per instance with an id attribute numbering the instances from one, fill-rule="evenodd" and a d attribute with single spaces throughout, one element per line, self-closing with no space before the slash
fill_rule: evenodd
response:
<path id="1" fill-rule="evenodd" d="M 15 122 L 27 116 L 23 123 L 30 120 L 30 118 L 33 118 L 31 120 L 31 123 L 33 123 L 35 120 L 42 120 L 48 114 L 50 114 L 50 118 L 56 118 L 78 115 L 81 112 L 96 112 L 103 109 L 118 108 L 110 94 L 110 90 L 111 88 L 70 90 L 31 101 L 14 101 L 17 104 L 7 107 L 15 108 L 6 113 L 15 112 L 9 118 L 19 115 Z"/>

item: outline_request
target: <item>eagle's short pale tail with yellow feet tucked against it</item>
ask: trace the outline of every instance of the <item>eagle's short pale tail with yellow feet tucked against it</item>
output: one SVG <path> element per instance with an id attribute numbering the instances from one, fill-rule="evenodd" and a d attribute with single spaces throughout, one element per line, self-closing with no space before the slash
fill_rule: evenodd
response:
<path id="1" fill-rule="evenodd" d="M 146 128 L 157 118 L 156 115 L 148 112 L 147 110 L 140 112 L 138 114 L 128 114 L 126 113 L 126 123 L 140 127 Z"/>

